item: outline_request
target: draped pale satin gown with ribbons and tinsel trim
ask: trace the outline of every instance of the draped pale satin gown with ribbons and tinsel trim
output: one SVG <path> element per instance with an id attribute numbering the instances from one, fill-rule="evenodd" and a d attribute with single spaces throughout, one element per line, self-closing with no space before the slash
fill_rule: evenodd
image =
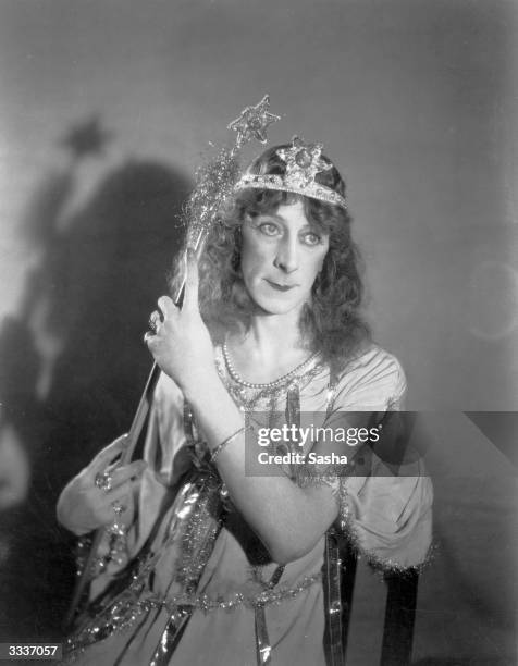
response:
<path id="1" fill-rule="evenodd" d="M 375 345 L 336 374 L 316 357 L 286 382 L 264 388 L 240 385 L 221 347 L 214 354 L 222 381 L 248 415 L 279 420 L 293 396 L 301 415 L 320 415 L 324 424 L 347 419 L 346 412 L 380 418 L 403 406 L 402 367 Z M 188 417 L 180 390 L 162 374 L 146 437 L 148 469 L 125 516 L 127 552 L 91 582 L 96 603 L 70 638 L 67 659 L 84 666 L 255 666 L 262 641 L 263 658 L 273 665 L 323 666 L 324 538 L 285 567 L 271 562 L 207 461 L 202 435 Z M 313 445 L 306 442 L 304 452 Z M 350 454 L 347 444 L 340 446 Z M 397 476 L 375 454 L 369 465 L 365 476 L 323 478 L 340 507 L 336 529 L 377 567 L 421 565 L 432 505 L 422 461 L 414 459 Z M 289 473 L 283 467 L 281 473 Z M 301 477 L 292 478 L 297 483 Z M 201 496 L 198 491 L 208 488 Z M 185 614 L 188 622 L 175 637 Z"/>

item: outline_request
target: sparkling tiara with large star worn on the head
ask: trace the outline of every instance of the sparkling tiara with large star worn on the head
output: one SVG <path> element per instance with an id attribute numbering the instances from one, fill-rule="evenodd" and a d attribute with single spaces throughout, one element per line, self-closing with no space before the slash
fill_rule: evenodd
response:
<path id="1" fill-rule="evenodd" d="M 306 144 L 300 137 L 295 136 L 289 148 L 280 148 L 275 152 L 286 164 L 284 175 L 256 174 L 247 171 L 236 183 L 234 189 L 251 187 L 291 192 L 347 208 L 345 197 L 314 180 L 318 173 L 328 171 L 332 166 L 321 158 L 321 144 Z"/>

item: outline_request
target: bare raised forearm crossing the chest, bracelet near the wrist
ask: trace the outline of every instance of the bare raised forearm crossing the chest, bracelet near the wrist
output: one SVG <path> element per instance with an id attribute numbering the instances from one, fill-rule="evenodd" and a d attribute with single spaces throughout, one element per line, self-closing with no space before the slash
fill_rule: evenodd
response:
<path id="1" fill-rule="evenodd" d="M 215 370 L 198 383 L 198 388 L 187 388 L 185 394 L 212 451 L 243 428 L 244 415 Z M 284 476 L 246 476 L 245 459 L 242 432 L 221 451 L 217 462 L 234 504 L 273 559 L 288 562 L 301 557 L 336 517 L 331 489 L 324 484 L 300 488 Z"/>

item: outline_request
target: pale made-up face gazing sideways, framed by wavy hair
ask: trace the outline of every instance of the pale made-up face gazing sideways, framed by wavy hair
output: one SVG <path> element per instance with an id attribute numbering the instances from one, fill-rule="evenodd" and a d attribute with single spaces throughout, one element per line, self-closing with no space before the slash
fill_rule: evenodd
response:
<path id="1" fill-rule="evenodd" d="M 246 288 L 264 312 L 299 312 L 328 254 L 329 234 L 312 225 L 304 205 L 280 206 L 243 223 L 242 272 Z"/>

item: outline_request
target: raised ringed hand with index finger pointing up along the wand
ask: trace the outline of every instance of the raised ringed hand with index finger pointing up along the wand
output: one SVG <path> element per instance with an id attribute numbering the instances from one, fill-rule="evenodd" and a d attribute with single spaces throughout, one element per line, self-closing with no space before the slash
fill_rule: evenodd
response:
<path id="1" fill-rule="evenodd" d="M 182 308 L 168 296 L 159 298 L 158 305 L 163 321 L 158 323 L 155 334 L 146 333 L 145 341 L 163 372 L 187 396 L 199 390 L 207 374 L 214 371 L 212 342 L 198 308 L 198 262 L 194 251 L 187 252 Z"/>

